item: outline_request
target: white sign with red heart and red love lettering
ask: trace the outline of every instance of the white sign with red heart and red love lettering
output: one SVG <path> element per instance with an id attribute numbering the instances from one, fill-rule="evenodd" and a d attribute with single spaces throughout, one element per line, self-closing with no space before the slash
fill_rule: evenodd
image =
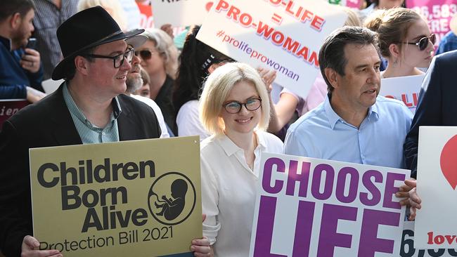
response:
<path id="1" fill-rule="evenodd" d="M 416 216 L 417 249 L 457 249 L 457 127 L 420 126 Z"/>

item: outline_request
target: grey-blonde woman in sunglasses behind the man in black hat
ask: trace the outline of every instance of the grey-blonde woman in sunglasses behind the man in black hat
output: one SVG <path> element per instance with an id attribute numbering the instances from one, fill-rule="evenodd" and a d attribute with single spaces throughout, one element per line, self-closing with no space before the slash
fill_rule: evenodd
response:
<path id="1" fill-rule="evenodd" d="M 150 98 L 159 105 L 165 123 L 177 135 L 172 88 L 178 67 L 178 50 L 172 38 L 161 29 L 146 29 L 142 35 L 148 40 L 135 49 L 135 55 L 141 58 L 141 67 L 150 77 Z"/>

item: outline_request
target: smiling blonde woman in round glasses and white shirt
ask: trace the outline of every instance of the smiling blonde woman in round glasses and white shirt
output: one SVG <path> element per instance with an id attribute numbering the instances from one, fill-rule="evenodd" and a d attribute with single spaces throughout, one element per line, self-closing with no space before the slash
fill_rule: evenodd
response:
<path id="1" fill-rule="evenodd" d="M 264 130 L 269 95 L 259 73 L 231 62 L 207 78 L 200 120 L 212 136 L 200 146 L 203 235 L 214 256 L 247 256 L 262 152 L 281 153 L 283 143 Z"/>

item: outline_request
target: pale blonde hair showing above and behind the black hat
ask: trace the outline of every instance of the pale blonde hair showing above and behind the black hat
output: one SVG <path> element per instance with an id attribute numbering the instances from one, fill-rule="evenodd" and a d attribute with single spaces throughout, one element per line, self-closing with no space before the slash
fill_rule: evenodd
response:
<path id="1" fill-rule="evenodd" d="M 127 18 L 124 9 L 122 9 L 118 0 L 79 0 L 77 11 L 95 6 L 101 6 L 110 13 L 111 17 L 117 22 L 117 25 L 119 25 L 122 31 L 127 29 Z"/>

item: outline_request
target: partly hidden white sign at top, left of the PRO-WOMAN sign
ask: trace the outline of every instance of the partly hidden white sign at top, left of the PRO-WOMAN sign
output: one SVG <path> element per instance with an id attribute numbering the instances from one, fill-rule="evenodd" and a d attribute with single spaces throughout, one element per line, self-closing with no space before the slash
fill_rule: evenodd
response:
<path id="1" fill-rule="evenodd" d="M 154 23 L 188 26 L 202 24 L 214 1 L 208 0 L 153 0 Z"/>

